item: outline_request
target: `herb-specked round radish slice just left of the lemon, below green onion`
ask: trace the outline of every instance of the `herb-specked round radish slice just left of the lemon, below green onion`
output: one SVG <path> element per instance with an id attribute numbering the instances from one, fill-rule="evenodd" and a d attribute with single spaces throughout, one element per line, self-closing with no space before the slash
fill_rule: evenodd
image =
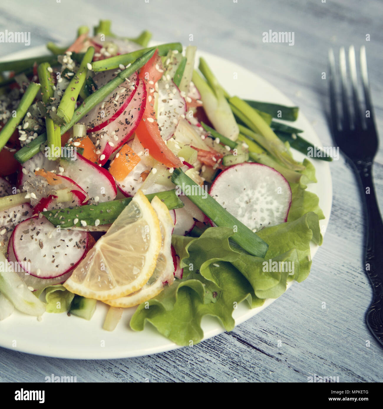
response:
<path id="1" fill-rule="evenodd" d="M 57 229 L 45 217 L 35 216 L 16 226 L 12 244 L 16 260 L 26 272 L 50 279 L 69 272 L 82 260 L 88 233 Z"/>

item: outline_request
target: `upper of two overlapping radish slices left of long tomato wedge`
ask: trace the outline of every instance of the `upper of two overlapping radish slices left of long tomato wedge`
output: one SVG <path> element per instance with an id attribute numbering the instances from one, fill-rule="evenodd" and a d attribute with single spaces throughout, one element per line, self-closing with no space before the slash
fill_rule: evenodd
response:
<path id="1" fill-rule="evenodd" d="M 93 81 L 97 87 L 100 88 L 115 78 L 116 75 L 116 70 L 102 71 L 93 77 Z M 87 132 L 97 132 L 117 119 L 133 98 L 138 83 L 138 75 L 137 72 L 135 72 L 127 81 L 123 82 L 111 92 L 104 101 L 88 112 L 84 117 Z"/>

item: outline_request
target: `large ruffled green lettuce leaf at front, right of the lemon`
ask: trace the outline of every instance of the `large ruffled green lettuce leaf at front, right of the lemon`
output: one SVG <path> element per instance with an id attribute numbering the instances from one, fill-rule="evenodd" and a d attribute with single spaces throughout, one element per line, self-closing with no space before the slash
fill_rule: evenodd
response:
<path id="1" fill-rule="evenodd" d="M 258 234 L 269 244 L 266 258 L 254 257 L 230 239 L 227 227 L 211 227 L 200 237 L 172 237 L 172 245 L 184 267 L 184 277 L 159 295 L 138 306 L 130 321 L 141 331 L 150 322 L 178 345 L 192 345 L 203 338 L 204 315 L 217 317 L 225 330 L 234 327 L 233 309 L 248 301 L 250 308 L 266 298 L 279 297 L 292 279 L 302 281 L 311 265 L 310 240 L 321 244 L 317 214 L 266 227 Z M 289 274 L 265 271 L 270 262 L 294 262 Z"/>

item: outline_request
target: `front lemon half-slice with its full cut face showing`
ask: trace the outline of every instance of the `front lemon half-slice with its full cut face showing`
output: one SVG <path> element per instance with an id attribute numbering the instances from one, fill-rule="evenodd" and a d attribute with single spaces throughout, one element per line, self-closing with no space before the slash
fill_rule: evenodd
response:
<path id="1" fill-rule="evenodd" d="M 150 279 L 160 250 L 159 218 L 138 191 L 63 285 L 97 300 L 124 297 Z"/>

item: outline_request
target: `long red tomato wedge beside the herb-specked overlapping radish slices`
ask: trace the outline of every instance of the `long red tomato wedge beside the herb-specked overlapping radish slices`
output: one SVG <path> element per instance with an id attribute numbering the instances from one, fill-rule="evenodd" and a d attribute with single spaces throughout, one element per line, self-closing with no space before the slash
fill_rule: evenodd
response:
<path id="1" fill-rule="evenodd" d="M 152 58 L 141 68 L 139 74 L 146 86 L 147 99 L 143 119 L 136 128 L 136 135 L 143 147 L 149 150 L 150 156 L 168 168 L 178 168 L 182 166 L 182 163 L 161 138 L 156 113 L 154 112 L 154 86 L 162 77 L 163 70 L 161 67 L 161 57 L 158 55 L 157 49 Z"/>

